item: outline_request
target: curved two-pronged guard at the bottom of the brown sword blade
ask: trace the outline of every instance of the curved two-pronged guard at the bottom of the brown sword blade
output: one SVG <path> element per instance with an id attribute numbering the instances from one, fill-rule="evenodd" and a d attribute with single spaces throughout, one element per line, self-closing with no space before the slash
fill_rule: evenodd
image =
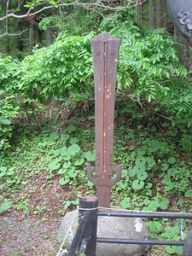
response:
<path id="1" fill-rule="evenodd" d="M 110 178 L 108 172 L 99 172 L 97 173 L 97 177 L 93 177 L 92 173 L 95 172 L 96 168 L 87 163 L 85 166 L 87 166 L 87 177 L 89 181 L 97 186 L 113 187 L 113 185 L 120 181 L 123 165 L 114 168 L 113 172 L 116 174 L 116 177 L 113 179 Z"/>

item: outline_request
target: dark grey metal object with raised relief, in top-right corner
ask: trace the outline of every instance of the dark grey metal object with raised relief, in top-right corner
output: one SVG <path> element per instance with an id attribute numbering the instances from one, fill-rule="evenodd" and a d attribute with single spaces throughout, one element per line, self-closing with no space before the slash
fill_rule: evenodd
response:
<path id="1" fill-rule="evenodd" d="M 172 22 L 190 38 L 192 36 L 192 1 L 191 0 L 167 0 L 169 14 Z"/>

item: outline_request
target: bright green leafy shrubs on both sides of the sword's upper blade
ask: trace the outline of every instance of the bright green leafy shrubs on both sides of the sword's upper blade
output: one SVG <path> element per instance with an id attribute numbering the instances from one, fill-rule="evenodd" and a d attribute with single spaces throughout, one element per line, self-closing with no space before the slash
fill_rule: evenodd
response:
<path id="1" fill-rule="evenodd" d="M 108 15 L 98 33 L 106 31 L 121 39 L 117 89 L 124 91 L 124 98 L 137 102 L 148 118 L 160 114 L 182 129 L 191 126 L 190 80 L 178 61 L 174 38 L 164 29 L 146 29 L 128 11 Z M 90 38 L 95 36 L 61 32 L 54 44 L 33 49 L 23 61 L 1 58 L 1 116 L 7 119 L 1 122 L 2 139 L 11 136 L 11 120 L 38 108 L 38 102 L 53 97 L 79 102 L 93 96 Z"/>

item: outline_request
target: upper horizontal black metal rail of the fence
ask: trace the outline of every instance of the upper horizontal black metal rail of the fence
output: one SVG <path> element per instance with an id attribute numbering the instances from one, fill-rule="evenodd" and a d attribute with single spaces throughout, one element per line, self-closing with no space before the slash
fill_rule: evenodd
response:
<path id="1" fill-rule="evenodd" d="M 192 218 L 191 213 L 182 212 L 113 212 L 98 211 L 98 216 L 136 218 Z"/>

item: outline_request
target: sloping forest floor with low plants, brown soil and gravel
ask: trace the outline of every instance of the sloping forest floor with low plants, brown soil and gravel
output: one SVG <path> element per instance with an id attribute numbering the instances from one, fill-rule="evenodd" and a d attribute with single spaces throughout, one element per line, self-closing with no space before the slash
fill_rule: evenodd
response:
<path id="1" fill-rule="evenodd" d="M 148 178 L 146 178 L 145 187 L 137 190 L 132 186 L 135 176 L 125 173 L 122 183 L 112 191 L 112 204 L 131 210 L 152 207 L 148 211 L 189 212 L 192 193 L 192 157 L 191 152 L 188 156 L 182 151 L 177 130 L 172 127 L 170 131 L 164 127 L 160 130 L 159 126 L 155 128 L 156 126 L 150 125 L 144 128 L 142 125 L 136 125 L 137 128 L 134 126 L 132 129 L 127 129 L 129 124 L 123 121 L 121 124 L 120 120 L 116 124 L 118 132 L 114 134 L 114 164 L 117 166 L 122 163 L 126 170 L 130 170 L 131 166 L 136 166 L 137 160 L 141 162 L 137 155 L 140 153 L 148 167 L 146 169 Z M 66 151 L 63 150 L 65 143 L 67 149 L 71 148 L 67 143 L 69 145 L 79 143 L 80 152 L 83 155 L 92 152 L 95 144 L 93 123 L 92 116 L 86 121 L 84 119 L 76 121 L 77 131 L 69 129 L 70 124 L 67 124 L 67 128 L 61 131 L 62 139 L 61 137 L 55 139 L 57 133 L 53 139 L 55 130 L 52 127 L 45 127 L 42 131 L 36 132 L 32 131 L 32 127 L 28 130 L 21 127 L 20 131 L 16 131 L 13 148 L 0 159 L 0 167 L 4 166 L 5 170 L 3 174 L 3 169 L 0 169 L 2 172 L 0 207 L 3 201 L 12 202 L 9 209 L 3 212 L 0 209 L 0 256 L 57 255 L 60 249 L 57 236 L 62 218 L 68 211 L 77 207 L 79 196 L 95 195 L 96 188 L 84 181 L 87 175 L 84 167 L 86 157 L 80 167 L 76 164 L 79 156 L 70 155 L 71 162 L 68 162 L 71 163 L 72 170 L 73 167 L 78 170 L 78 175 L 72 172 L 71 176 L 64 172 L 66 166 L 62 161 L 59 166 L 57 166 L 58 162 L 54 161 L 56 158 L 59 159 L 58 155 L 61 152 L 64 153 L 64 155 L 61 154 L 63 159 L 66 156 Z M 187 146 L 191 148 L 191 143 L 187 142 Z M 150 167 L 151 164 L 153 165 Z M 61 167 L 64 171 L 60 173 Z M 68 175 L 67 183 L 60 184 L 62 174 Z M 174 186 L 171 186 L 172 184 Z M 157 200 L 158 206 L 156 206 Z M 122 201 L 124 205 L 121 204 Z M 164 203 L 162 207 L 160 207 L 161 203 Z M 168 235 L 175 232 L 177 240 L 180 240 L 179 222 L 178 224 L 166 221 L 155 223 L 160 230 L 154 230 L 153 235 L 158 239 L 165 240 L 163 228 L 166 228 L 169 231 Z M 184 226 L 186 234 L 190 226 L 191 222 Z M 172 239 L 168 235 L 166 240 Z M 171 254 L 179 255 L 174 252 Z M 148 252 L 148 256 L 171 254 L 166 252 L 165 247 L 152 247 Z"/>

